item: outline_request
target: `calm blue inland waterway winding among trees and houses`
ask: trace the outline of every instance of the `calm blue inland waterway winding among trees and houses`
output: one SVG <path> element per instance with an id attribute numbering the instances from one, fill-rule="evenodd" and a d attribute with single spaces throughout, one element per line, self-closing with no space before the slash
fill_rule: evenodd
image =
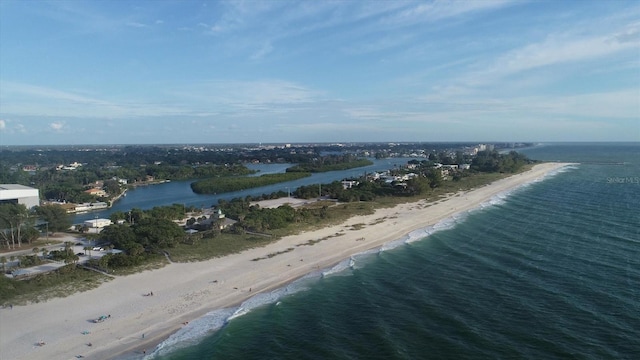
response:
<path id="1" fill-rule="evenodd" d="M 171 181 L 157 185 L 140 186 L 127 191 L 127 195 L 118 200 L 111 208 L 92 211 L 83 214 L 76 214 L 73 217 L 73 223 L 79 224 L 85 220 L 93 220 L 96 218 L 108 218 L 109 215 L 116 211 L 128 212 L 133 208 L 148 210 L 156 206 L 167 206 L 172 204 L 184 204 L 185 206 L 195 206 L 200 208 L 209 208 L 215 206 L 219 200 L 231 200 L 238 197 L 258 196 L 262 194 L 270 194 L 276 191 L 294 191 L 300 186 L 311 184 L 327 184 L 336 180 L 342 180 L 350 177 L 358 177 L 364 173 L 375 171 L 385 171 L 392 169 L 394 166 L 404 165 L 412 158 L 389 158 L 373 161 L 372 165 L 363 166 L 355 169 L 329 171 L 324 173 L 315 173 L 310 177 L 287 181 L 279 184 L 262 186 L 242 191 L 228 192 L 216 195 L 200 195 L 191 190 L 191 183 L 195 180 Z M 249 164 L 248 168 L 258 170 L 256 176 L 263 174 L 283 173 L 286 168 L 292 164 Z"/>

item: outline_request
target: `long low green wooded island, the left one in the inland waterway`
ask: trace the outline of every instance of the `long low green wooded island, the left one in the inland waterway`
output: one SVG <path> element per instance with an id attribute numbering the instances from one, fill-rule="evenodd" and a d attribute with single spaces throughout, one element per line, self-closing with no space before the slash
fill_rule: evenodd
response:
<path id="1" fill-rule="evenodd" d="M 196 194 L 219 194 L 298 180 L 311 176 L 308 172 L 266 174 L 256 177 L 213 178 L 196 181 L 191 189 Z"/>

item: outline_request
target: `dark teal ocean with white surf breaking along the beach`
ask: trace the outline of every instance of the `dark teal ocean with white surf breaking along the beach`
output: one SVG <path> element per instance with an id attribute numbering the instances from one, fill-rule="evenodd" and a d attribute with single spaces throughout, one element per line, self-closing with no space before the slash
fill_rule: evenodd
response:
<path id="1" fill-rule="evenodd" d="M 640 359 L 640 144 L 219 309 L 153 359 Z"/>

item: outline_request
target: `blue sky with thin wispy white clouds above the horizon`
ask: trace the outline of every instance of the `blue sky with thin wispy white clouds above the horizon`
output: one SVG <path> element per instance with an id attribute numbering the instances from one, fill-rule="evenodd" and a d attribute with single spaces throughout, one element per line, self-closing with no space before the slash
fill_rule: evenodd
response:
<path id="1" fill-rule="evenodd" d="M 0 145 L 640 141 L 635 1 L 0 1 Z"/>

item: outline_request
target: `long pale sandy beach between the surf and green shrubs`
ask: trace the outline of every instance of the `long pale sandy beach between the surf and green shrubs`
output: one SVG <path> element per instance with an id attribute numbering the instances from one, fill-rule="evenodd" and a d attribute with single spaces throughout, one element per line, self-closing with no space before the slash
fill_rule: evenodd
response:
<path id="1" fill-rule="evenodd" d="M 539 164 L 528 172 L 430 206 L 421 201 L 380 209 L 372 215 L 288 236 L 240 254 L 199 263 L 174 263 L 119 277 L 66 298 L 0 309 L 0 359 L 55 360 L 77 355 L 105 359 L 141 352 L 143 348 L 150 353 L 155 344 L 184 322 L 208 311 L 238 305 L 256 293 L 276 289 L 318 268 L 328 268 L 351 255 L 400 239 L 566 165 Z M 365 226 L 354 230 L 356 224 Z M 333 236 L 338 233 L 342 235 Z M 297 246 L 320 239 L 325 240 L 312 246 Z M 283 252 L 289 248 L 293 250 Z M 283 253 L 252 261 L 279 252 Z M 154 296 L 143 296 L 150 291 Z M 101 323 L 91 321 L 100 315 L 111 318 Z M 85 331 L 90 333 L 83 335 Z M 40 340 L 46 345 L 37 346 Z"/>

